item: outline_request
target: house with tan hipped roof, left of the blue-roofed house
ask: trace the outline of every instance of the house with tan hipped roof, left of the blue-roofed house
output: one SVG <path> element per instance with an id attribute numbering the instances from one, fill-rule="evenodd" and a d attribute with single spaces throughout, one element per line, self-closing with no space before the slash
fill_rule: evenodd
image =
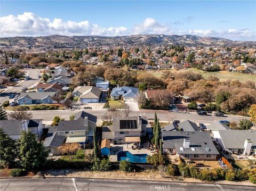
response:
<path id="1" fill-rule="evenodd" d="M 73 96 L 79 97 L 82 103 L 97 103 L 101 95 L 101 88 L 94 86 L 78 86 L 73 91 Z"/>

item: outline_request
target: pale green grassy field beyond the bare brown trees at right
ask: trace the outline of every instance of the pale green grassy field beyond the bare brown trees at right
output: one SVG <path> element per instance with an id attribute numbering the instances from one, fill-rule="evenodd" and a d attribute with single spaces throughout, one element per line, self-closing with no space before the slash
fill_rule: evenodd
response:
<path id="1" fill-rule="evenodd" d="M 155 77 L 161 77 L 162 73 L 165 70 L 157 70 L 157 71 L 137 71 L 137 74 L 140 73 L 149 73 L 150 75 L 154 75 Z M 229 71 L 219 71 L 219 72 L 204 72 L 202 70 L 197 70 L 195 68 L 190 69 L 182 69 L 182 70 L 169 70 L 173 73 L 181 72 L 181 71 L 193 71 L 195 73 L 202 74 L 203 78 L 208 79 L 210 76 L 215 76 L 220 79 L 220 81 L 224 80 L 239 80 L 241 82 L 246 82 L 247 80 L 256 81 L 256 75 L 249 74 L 249 73 L 239 73 L 239 72 L 229 72 Z"/>

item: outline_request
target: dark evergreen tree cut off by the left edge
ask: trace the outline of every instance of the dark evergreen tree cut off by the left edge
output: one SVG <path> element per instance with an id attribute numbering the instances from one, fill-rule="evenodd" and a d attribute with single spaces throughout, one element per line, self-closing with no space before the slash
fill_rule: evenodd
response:
<path id="1" fill-rule="evenodd" d="M 15 140 L 13 140 L 6 132 L 0 128 L 0 166 L 3 168 L 9 167 L 14 163 L 16 154 Z"/>

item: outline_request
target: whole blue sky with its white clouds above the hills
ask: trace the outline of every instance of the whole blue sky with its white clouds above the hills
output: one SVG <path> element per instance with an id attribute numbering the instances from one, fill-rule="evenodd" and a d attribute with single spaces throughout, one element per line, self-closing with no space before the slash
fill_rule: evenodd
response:
<path id="1" fill-rule="evenodd" d="M 163 33 L 255 41 L 255 15 L 255 1 L 1 1 L 0 27 L 1 36 Z"/>

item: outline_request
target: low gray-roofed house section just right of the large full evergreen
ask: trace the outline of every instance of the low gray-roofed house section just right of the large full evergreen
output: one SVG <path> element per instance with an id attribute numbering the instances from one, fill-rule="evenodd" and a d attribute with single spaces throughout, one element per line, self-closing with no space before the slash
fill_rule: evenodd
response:
<path id="1" fill-rule="evenodd" d="M 66 137 L 60 136 L 57 132 L 50 137 L 46 137 L 44 140 L 45 151 L 52 153 L 53 155 L 60 155 L 58 147 L 65 143 Z"/>

